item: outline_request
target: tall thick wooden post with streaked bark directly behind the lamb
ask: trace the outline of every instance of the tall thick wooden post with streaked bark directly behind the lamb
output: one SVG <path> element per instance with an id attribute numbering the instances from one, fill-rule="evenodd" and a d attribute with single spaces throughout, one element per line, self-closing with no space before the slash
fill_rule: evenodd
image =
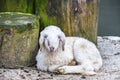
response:
<path id="1" fill-rule="evenodd" d="M 57 25 L 67 36 L 81 36 L 96 43 L 99 0 L 36 0 L 41 30 Z"/>

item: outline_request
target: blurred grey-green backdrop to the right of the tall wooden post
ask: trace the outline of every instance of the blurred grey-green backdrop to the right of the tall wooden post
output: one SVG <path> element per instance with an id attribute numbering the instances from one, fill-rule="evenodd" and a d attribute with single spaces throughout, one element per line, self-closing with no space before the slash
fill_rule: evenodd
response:
<path id="1" fill-rule="evenodd" d="M 120 36 L 120 0 L 100 0 L 99 36 Z"/>

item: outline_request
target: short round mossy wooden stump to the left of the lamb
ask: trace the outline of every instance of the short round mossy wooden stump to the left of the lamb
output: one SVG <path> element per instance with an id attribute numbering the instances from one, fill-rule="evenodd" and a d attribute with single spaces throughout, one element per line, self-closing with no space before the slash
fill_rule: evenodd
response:
<path id="1" fill-rule="evenodd" d="M 0 67 L 18 68 L 35 64 L 39 20 L 23 13 L 0 13 Z"/>

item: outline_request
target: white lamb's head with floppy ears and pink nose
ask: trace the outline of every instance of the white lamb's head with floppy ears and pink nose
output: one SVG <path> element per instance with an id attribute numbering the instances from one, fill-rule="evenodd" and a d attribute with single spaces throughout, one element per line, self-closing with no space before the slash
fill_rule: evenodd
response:
<path id="1" fill-rule="evenodd" d="M 40 33 L 40 50 L 46 49 L 48 52 L 54 52 L 58 49 L 64 50 L 65 35 L 60 28 L 48 26 Z"/>

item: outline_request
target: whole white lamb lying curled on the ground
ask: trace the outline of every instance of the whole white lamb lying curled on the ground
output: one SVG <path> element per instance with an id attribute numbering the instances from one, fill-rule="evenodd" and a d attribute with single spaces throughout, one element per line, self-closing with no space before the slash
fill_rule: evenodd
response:
<path id="1" fill-rule="evenodd" d="M 95 75 L 102 66 L 100 53 L 92 42 L 65 37 L 56 26 L 48 26 L 41 32 L 39 44 L 36 61 L 41 71 Z"/>

